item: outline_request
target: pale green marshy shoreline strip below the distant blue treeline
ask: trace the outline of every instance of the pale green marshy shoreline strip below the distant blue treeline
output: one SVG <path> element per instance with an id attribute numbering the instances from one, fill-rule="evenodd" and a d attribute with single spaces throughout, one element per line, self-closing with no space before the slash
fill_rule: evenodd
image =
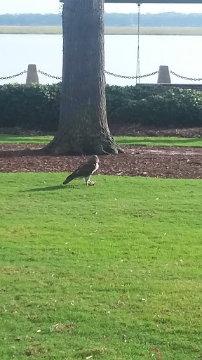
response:
<path id="1" fill-rule="evenodd" d="M 62 34 L 60 26 L 0 26 L 0 34 Z M 137 35 L 137 27 L 105 27 L 106 35 Z M 201 36 L 202 27 L 140 27 L 140 35 Z"/>

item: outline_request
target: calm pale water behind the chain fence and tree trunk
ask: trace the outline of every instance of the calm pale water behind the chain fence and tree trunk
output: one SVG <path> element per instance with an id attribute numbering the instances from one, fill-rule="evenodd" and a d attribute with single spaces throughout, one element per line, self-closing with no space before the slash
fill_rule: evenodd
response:
<path id="1" fill-rule="evenodd" d="M 141 36 L 140 75 L 159 70 L 159 65 L 168 65 L 170 70 L 187 77 L 202 77 L 202 37 L 200 36 Z M 27 70 L 35 63 L 39 70 L 51 75 L 62 75 L 61 35 L 0 35 L 0 77 Z M 105 36 L 105 70 L 119 75 L 136 75 L 137 36 Z M 14 81 L 25 83 L 26 75 Z M 135 80 L 119 79 L 107 75 L 107 84 L 133 85 Z M 57 82 L 39 75 L 41 84 Z M 157 75 L 140 80 L 156 83 Z M 174 84 L 191 83 L 171 75 Z M 201 82 L 202 83 L 202 82 Z"/>

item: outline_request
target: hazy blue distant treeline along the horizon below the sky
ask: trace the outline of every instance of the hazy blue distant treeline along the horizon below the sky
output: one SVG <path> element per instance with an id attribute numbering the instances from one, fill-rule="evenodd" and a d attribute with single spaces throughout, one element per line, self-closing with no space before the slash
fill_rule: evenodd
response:
<path id="1" fill-rule="evenodd" d="M 5 14 L 0 15 L 0 26 L 61 26 L 61 14 Z M 137 13 L 105 13 L 105 26 L 135 26 Z M 142 14 L 141 26 L 201 27 L 201 14 L 159 13 Z"/>

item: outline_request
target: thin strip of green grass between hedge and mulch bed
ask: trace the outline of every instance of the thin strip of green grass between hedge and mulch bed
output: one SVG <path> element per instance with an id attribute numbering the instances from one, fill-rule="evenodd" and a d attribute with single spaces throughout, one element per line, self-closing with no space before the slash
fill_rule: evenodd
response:
<path id="1" fill-rule="evenodd" d="M 48 143 L 53 136 L 18 136 L 0 134 L 0 143 Z M 151 136 L 118 136 L 115 137 L 120 145 L 137 146 L 202 146 L 201 138 L 175 138 L 175 137 L 151 137 Z"/>

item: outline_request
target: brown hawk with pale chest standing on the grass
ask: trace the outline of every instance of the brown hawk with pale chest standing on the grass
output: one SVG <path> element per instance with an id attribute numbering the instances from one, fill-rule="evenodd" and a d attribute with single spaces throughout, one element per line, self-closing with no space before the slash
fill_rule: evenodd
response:
<path id="1" fill-rule="evenodd" d="M 90 176 L 99 168 L 99 158 L 97 155 L 90 156 L 90 158 L 81 164 L 72 174 L 67 176 L 63 185 L 68 184 L 70 181 L 78 178 L 84 178 L 87 186 L 95 185 L 94 181 L 90 181 Z"/>

